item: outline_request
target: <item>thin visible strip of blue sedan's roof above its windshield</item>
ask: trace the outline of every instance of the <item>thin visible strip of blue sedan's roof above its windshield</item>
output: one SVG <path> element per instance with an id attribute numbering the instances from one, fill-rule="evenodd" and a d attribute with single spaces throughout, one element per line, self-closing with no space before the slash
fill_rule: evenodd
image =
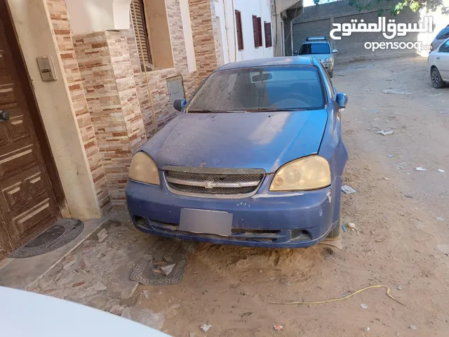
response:
<path id="1" fill-rule="evenodd" d="M 215 72 L 250 67 L 270 67 L 274 65 L 316 65 L 316 60 L 310 56 L 286 56 L 281 58 L 255 58 L 222 65 Z"/>

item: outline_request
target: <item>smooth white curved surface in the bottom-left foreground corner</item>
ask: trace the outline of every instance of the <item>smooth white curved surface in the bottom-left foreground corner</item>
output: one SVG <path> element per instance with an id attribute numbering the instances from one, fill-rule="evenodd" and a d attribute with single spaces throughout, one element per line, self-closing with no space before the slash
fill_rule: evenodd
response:
<path id="1" fill-rule="evenodd" d="M 5 304 L 0 305 L 1 336 L 168 337 L 109 312 L 39 293 L 0 286 L 0 298 Z"/>

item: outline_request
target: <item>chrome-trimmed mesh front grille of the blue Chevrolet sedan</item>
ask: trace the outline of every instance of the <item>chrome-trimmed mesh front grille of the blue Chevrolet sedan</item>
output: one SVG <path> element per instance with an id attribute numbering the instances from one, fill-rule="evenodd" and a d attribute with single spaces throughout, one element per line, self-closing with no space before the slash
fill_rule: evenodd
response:
<path id="1" fill-rule="evenodd" d="M 262 170 L 236 170 L 230 169 L 186 168 L 186 171 L 164 170 L 168 189 L 176 194 L 192 195 L 196 197 L 247 197 L 257 192 L 264 173 Z M 227 171 L 226 173 L 224 171 Z M 228 173 L 229 172 L 229 173 Z"/>

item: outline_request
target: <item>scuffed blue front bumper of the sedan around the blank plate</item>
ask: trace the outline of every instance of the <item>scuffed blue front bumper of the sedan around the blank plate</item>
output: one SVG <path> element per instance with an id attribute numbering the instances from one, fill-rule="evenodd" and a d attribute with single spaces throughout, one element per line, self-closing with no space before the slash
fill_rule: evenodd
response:
<path id="1" fill-rule="evenodd" d="M 341 177 L 330 187 L 301 193 L 266 192 L 267 183 L 252 197 L 213 199 L 185 197 L 161 186 L 128 180 L 126 201 L 134 225 L 142 232 L 215 244 L 302 248 L 318 244 L 338 225 Z M 232 234 L 181 232 L 181 209 L 232 213 Z"/>

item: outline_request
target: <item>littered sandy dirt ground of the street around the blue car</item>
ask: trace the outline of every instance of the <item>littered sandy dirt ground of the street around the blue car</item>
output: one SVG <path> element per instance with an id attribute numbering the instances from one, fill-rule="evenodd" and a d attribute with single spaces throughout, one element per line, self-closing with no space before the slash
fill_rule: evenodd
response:
<path id="1" fill-rule="evenodd" d="M 431 88 L 421 58 L 344 65 L 333 83 L 349 95 L 342 114 L 349 150 L 344 183 L 358 191 L 342 197 L 342 223 L 356 225 L 337 241 L 342 249 L 200 244 L 179 285 L 140 285 L 131 298 L 97 306 L 139 304 L 163 312 L 162 330 L 173 336 L 449 336 L 449 257 L 436 247 L 449 244 L 449 88 Z M 389 88 L 413 94 L 382 93 Z M 375 133 L 382 129 L 394 133 Z M 152 241 L 129 232 L 130 244 Z M 342 298 L 376 284 L 391 287 L 403 305 L 385 289 L 322 305 L 270 303 Z M 67 295 L 72 289 L 31 290 L 75 299 Z M 207 333 L 199 329 L 203 323 L 212 325 Z M 282 331 L 274 331 L 278 324 Z"/>

